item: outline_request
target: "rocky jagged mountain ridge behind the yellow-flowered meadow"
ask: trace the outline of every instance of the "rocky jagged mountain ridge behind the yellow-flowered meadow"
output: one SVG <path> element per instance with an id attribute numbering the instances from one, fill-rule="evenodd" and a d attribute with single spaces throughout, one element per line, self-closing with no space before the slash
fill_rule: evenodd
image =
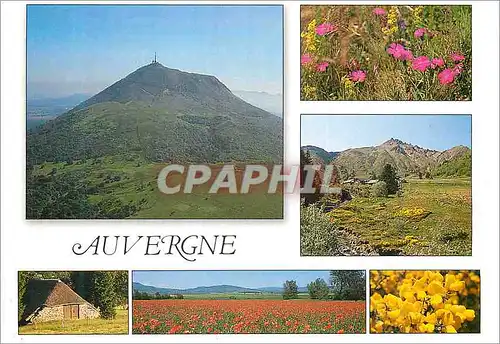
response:
<path id="1" fill-rule="evenodd" d="M 378 175 L 386 164 L 394 166 L 401 175 L 437 171 L 445 165 L 446 169 L 450 170 L 448 175 L 453 175 L 454 172 L 461 175 L 467 170 L 467 166 L 470 175 L 471 150 L 465 146 L 437 151 L 391 138 L 378 146 L 350 148 L 342 152 L 328 153 L 321 148 L 311 147 L 314 146 L 304 146 L 302 149 L 309 150 L 311 156 L 324 155 L 321 152 L 328 154 L 326 156 L 330 156 L 331 159 L 330 162 L 326 160 L 326 163 L 334 164 L 343 178 L 346 175 L 357 177 L 368 177 L 372 173 Z M 451 171 L 454 166 L 460 166 L 462 171 Z"/>

